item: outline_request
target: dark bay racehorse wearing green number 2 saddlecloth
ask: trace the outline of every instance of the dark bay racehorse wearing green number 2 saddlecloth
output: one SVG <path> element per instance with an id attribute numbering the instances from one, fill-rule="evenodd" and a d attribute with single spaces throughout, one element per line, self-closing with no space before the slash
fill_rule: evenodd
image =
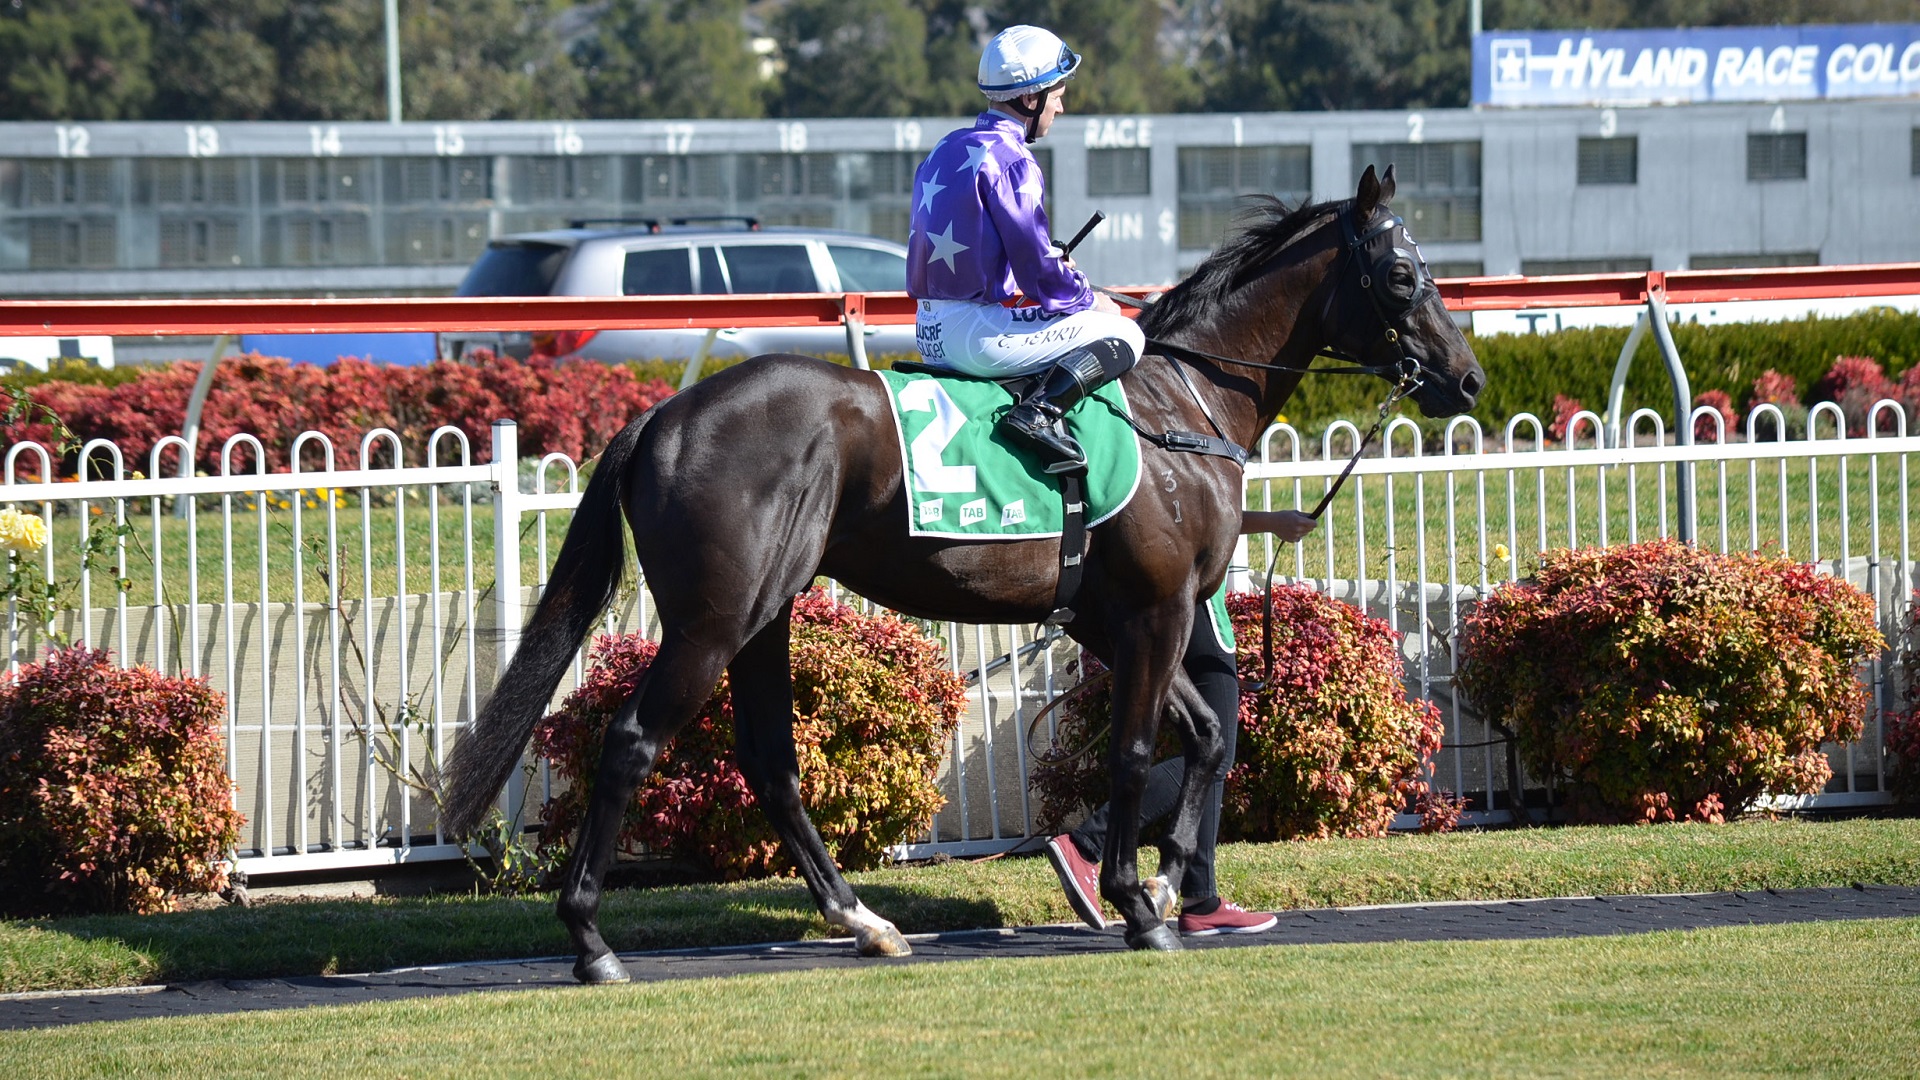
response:
<path id="1" fill-rule="evenodd" d="M 1484 375 L 1442 307 L 1419 248 L 1386 208 L 1394 171 L 1361 177 L 1352 200 L 1288 209 L 1263 200 L 1242 229 L 1142 319 L 1150 336 L 1269 367 L 1188 359 L 1192 388 L 1164 356 L 1125 375 L 1144 430 L 1213 430 L 1252 446 L 1315 354 L 1402 369 L 1427 415 L 1465 411 Z M 1198 398 L 1206 400 L 1212 421 Z M 1114 669 L 1114 828 L 1100 894 L 1133 947 L 1175 949 L 1165 907 L 1137 876 L 1139 799 L 1162 715 L 1179 726 L 1187 780 L 1160 878 L 1177 882 L 1198 838 L 1200 799 L 1221 761 L 1221 728 L 1181 673 L 1194 605 L 1227 575 L 1240 527 L 1240 467 L 1142 444 L 1133 502 L 1092 530 L 1066 626 Z M 597 928 L 601 880 L 636 786 L 660 748 L 732 675 L 739 769 L 828 922 L 862 955 L 902 955 L 900 932 L 854 897 L 801 803 L 793 751 L 787 619 L 828 575 L 895 611 L 960 623 L 1039 623 L 1054 605 L 1060 540 L 908 538 L 908 498 L 887 392 L 876 375 L 762 356 L 676 394 L 601 455 L 553 578 L 505 676 L 455 744 L 445 828 L 486 813 L 547 711 L 561 675 L 611 601 L 622 571 L 620 513 L 660 615 L 660 651 L 607 728 L 559 915 L 582 982 L 626 969 Z M 1162 884 L 1162 882 L 1156 882 Z"/>

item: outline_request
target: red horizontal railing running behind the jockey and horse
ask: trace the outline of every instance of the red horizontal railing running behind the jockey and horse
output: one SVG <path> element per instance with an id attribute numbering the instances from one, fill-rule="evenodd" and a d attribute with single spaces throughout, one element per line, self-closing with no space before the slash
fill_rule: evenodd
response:
<path id="1" fill-rule="evenodd" d="M 1146 296 L 1164 286 L 1123 288 Z M 1453 311 L 1607 307 L 1738 300 L 1920 296 L 1920 263 L 1653 271 L 1590 277 L 1457 277 L 1440 281 Z M 776 296 L 566 296 L 396 300 L 0 300 L 0 336 L 290 334 L 371 331 L 607 331 L 697 327 L 837 327 L 914 321 L 902 292 Z"/>

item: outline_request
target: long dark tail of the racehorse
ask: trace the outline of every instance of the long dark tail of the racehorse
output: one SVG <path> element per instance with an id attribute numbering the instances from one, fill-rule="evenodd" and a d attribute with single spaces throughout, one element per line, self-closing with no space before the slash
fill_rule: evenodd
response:
<path id="1" fill-rule="evenodd" d="M 495 682 L 480 715 L 453 744 L 440 786 L 440 822 L 451 838 L 472 832 L 493 796 L 513 776 L 526 740 L 553 701 L 553 690 L 580 642 L 620 588 L 626 575 L 620 496 L 639 432 L 651 417 L 653 409 L 641 413 L 601 452 L 513 663 Z"/>

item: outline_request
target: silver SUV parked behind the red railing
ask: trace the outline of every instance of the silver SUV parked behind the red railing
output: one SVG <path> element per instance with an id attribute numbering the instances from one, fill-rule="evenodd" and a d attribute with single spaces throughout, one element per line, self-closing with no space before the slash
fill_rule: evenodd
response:
<path id="1" fill-rule="evenodd" d="M 728 227 L 695 223 L 728 221 Z M 833 229 L 762 229 L 753 217 L 586 219 L 549 233 L 520 233 L 488 244 L 455 296 L 693 296 L 741 292 L 900 292 L 906 248 Z M 468 350 L 526 357 L 526 331 L 440 334 L 440 356 Z M 543 352 L 568 357 L 691 359 L 762 352 L 847 356 L 843 327 L 747 327 L 708 331 L 570 331 Z M 912 327 L 866 327 L 868 356 L 912 354 Z"/>

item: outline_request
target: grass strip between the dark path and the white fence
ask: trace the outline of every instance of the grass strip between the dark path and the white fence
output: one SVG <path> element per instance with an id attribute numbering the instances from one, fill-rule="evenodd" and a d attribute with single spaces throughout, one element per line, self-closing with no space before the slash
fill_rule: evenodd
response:
<path id="1" fill-rule="evenodd" d="M 1142 863 L 1158 855 L 1142 851 Z M 1044 859 L 851 874 L 910 934 L 1071 920 Z M 1252 909 L 1425 899 L 1920 884 L 1920 821 L 1668 824 L 1229 844 L 1221 894 Z M 616 949 L 818 938 L 793 878 L 612 890 Z M 551 896 L 267 903 L 148 917 L 0 922 L 0 992 L 259 978 L 568 953 Z"/>

